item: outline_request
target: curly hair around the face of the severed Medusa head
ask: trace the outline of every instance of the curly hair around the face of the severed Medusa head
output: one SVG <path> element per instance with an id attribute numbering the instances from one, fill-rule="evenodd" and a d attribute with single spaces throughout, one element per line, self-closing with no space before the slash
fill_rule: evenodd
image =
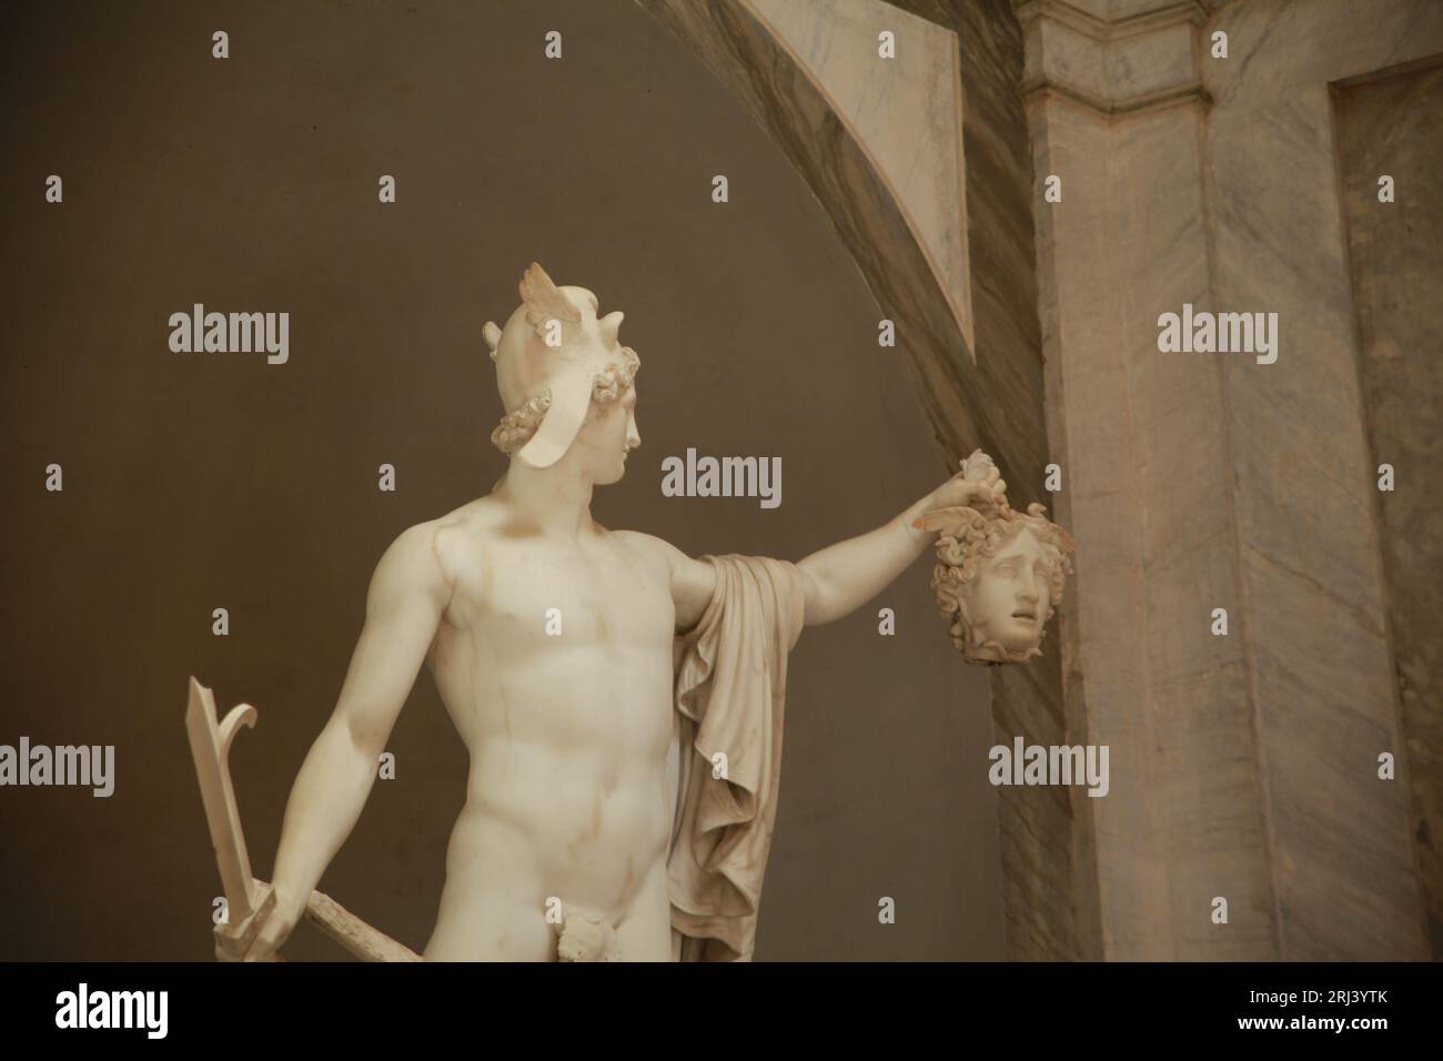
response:
<path id="1" fill-rule="evenodd" d="M 1075 549 L 1072 536 L 1048 520 L 1043 505 L 1033 502 L 1027 505 L 1026 514 L 1017 512 L 1007 504 L 1004 494 L 984 494 L 977 508 L 945 511 L 949 518 L 937 537 L 938 564 L 932 569 L 932 590 L 942 616 L 952 619 L 948 631 L 952 644 L 970 663 L 1022 663 L 1040 655 L 1039 648 L 1032 648 L 1019 657 L 991 641 L 968 645 L 962 596 L 987 560 L 997 556 L 1017 534 L 1030 530 L 1042 546 L 1048 570 L 1048 614 L 1042 616 L 1045 626 L 1062 602 L 1066 576 L 1072 573 L 1068 557 Z"/>

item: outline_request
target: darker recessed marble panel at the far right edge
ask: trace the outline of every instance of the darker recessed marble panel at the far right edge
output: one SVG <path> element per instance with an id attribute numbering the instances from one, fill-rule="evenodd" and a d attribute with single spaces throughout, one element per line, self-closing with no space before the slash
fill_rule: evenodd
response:
<path id="1" fill-rule="evenodd" d="M 1394 469 L 1377 494 L 1388 625 L 1413 794 L 1413 834 L 1433 959 L 1443 959 L 1443 56 L 1427 69 L 1342 88 L 1342 159 L 1369 466 Z M 1378 178 L 1394 180 L 1380 202 Z"/>

